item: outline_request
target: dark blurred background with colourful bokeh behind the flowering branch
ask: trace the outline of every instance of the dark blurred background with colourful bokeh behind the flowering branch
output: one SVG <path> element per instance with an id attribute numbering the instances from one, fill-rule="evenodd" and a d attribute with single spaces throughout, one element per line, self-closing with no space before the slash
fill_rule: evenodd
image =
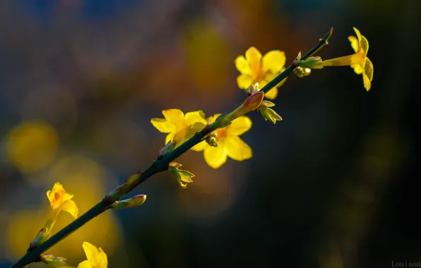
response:
<path id="1" fill-rule="evenodd" d="M 59 181 L 81 213 L 164 145 L 162 109 L 210 116 L 244 98 L 234 60 L 251 46 L 287 64 L 331 26 L 324 59 L 351 54 L 359 28 L 372 90 L 350 67 L 291 75 L 275 125 L 250 115 L 254 157 L 136 188 L 144 205 L 100 215 L 49 253 L 109 267 L 391 267 L 421 262 L 420 6 L 414 0 L 0 1 L 0 267 L 43 226 Z M 54 231 L 69 224 L 59 215 Z M 30 267 L 42 267 L 32 264 Z"/>

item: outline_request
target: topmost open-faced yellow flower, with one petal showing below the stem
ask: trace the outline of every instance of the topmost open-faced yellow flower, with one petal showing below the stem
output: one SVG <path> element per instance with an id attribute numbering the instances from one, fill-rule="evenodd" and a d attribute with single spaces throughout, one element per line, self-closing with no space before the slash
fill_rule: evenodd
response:
<path id="1" fill-rule="evenodd" d="M 250 47 L 246 51 L 245 58 L 237 56 L 235 59 L 235 67 L 241 73 L 237 77 L 238 87 L 246 90 L 250 85 L 259 83 L 259 88 L 263 88 L 285 70 L 285 61 L 284 51 L 272 50 L 262 57 L 256 47 Z M 278 95 L 278 87 L 285 83 L 285 79 L 266 92 L 265 97 L 275 99 Z"/>

